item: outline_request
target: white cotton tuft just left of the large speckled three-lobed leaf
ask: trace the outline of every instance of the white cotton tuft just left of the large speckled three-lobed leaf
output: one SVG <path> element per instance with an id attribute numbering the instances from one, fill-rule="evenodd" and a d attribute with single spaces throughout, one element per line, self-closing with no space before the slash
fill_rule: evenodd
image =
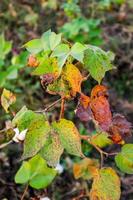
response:
<path id="1" fill-rule="evenodd" d="M 28 130 L 28 129 L 25 129 L 25 130 L 19 132 L 19 129 L 18 129 L 18 128 L 15 128 L 14 131 L 15 131 L 16 134 L 14 135 L 14 137 L 13 137 L 12 140 L 13 140 L 14 142 L 17 142 L 17 143 L 20 142 L 20 141 L 23 141 L 23 140 L 25 139 L 27 130 Z"/>

